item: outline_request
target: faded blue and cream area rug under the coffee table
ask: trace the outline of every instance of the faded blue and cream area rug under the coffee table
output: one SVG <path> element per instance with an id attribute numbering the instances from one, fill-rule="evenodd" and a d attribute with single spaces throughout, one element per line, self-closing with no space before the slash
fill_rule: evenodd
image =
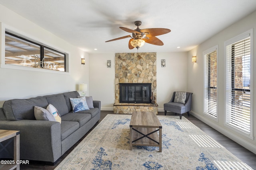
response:
<path id="1" fill-rule="evenodd" d="M 158 147 L 129 150 L 131 115 L 107 115 L 56 170 L 252 170 L 185 117 L 158 115 Z"/>

